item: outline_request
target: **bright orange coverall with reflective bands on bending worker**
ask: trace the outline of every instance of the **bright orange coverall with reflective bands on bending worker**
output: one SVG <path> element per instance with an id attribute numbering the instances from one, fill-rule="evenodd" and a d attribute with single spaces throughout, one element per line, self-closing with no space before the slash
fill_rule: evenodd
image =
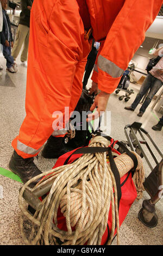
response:
<path id="1" fill-rule="evenodd" d="M 76 107 L 91 41 L 101 41 L 92 80 L 106 93 L 116 89 L 145 39 L 162 0 L 35 0 L 30 16 L 26 118 L 12 147 L 23 158 L 36 156 L 49 136 L 55 111 Z M 68 120 L 67 120 L 68 121 Z M 65 123 L 63 124 L 65 127 Z"/>

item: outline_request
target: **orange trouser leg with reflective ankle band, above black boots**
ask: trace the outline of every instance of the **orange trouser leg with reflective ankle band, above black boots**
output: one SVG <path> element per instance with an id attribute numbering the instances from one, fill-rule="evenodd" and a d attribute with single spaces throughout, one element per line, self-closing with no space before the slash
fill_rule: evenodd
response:
<path id="1" fill-rule="evenodd" d="M 66 118 L 65 122 L 65 107 L 71 106 L 73 111 L 77 105 L 82 92 L 83 60 L 90 51 L 77 2 L 55 1 L 48 21 L 41 5 L 44 3 L 35 1 L 31 11 L 26 118 L 12 141 L 12 147 L 23 158 L 36 156 L 53 132 L 54 136 L 66 133 L 60 129 L 68 121 Z M 61 115 L 63 122 L 59 128 L 54 123 Z M 54 131 L 55 128 L 60 130 Z"/>

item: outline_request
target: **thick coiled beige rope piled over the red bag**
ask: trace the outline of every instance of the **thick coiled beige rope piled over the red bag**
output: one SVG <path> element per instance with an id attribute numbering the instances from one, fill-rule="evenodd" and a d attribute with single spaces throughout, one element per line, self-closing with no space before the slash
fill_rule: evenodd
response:
<path id="1" fill-rule="evenodd" d="M 97 136 L 91 139 L 89 147 L 108 147 L 109 141 Z M 136 168 L 136 188 L 141 197 L 143 190 L 143 166 L 139 155 Z M 116 157 L 115 162 L 123 176 L 134 167 L 133 160 L 126 154 Z M 53 172 L 53 173 L 52 173 Z M 48 175 L 48 176 L 46 176 Z M 23 192 L 34 180 L 43 178 L 36 188 L 53 180 L 43 207 L 32 216 L 27 210 Z M 113 191 L 114 188 L 114 191 Z M 114 193 L 115 192 L 115 193 Z M 84 154 L 74 163 L 61 166 L 28 181 L 19 194 L 21 209 L 21 232 L 24 241 L 30 245 L 101 245 L 108 222 L 111 205 L 112 228 L 107 245 L 110 245 L 117 228 L 117 244 L 120 244 L 120 225 L 117 206 L 117 188 L 106 153 Z M 66 218 L 67 231 L 58 228 L 58 209 Z M 75 227 L 75 230 L 72 230 Z"/>

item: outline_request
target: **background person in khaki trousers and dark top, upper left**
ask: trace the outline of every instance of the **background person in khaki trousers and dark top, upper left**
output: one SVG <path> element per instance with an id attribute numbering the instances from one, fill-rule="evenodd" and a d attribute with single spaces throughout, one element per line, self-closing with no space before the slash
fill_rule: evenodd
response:
<path id="1" fill-rule="evenodd" d="M 18 54 L 21 53 L 21 64 L 27 67 L 28 44 L 29 44 L 29 26 L 30 26 L 30 10 L 34 0 L 21 0 L 22 11 L 17 29 L 16 40 L 12 49 L 12 57 L 16 60 Z"/>

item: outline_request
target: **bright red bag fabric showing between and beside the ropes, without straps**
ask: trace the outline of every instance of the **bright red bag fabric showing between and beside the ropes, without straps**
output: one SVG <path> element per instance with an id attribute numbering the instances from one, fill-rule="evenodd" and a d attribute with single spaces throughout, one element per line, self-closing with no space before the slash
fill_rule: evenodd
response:
<path id="1" fill-rule="evenodd" d="M 70 156 L 75 150 L 72 150 L 72 151 L 60 156 L 53 168 L 57 168 L 59 166 L 62 166 L 65 163 L 68 156 Z M 115 149 L 113 149 L 112 151 L 121 155 Z M 82 156 L 82 154 L 72 155 L 70 160 L 68 161 L 68 164 L 72 163 L 74 160 L 78 159 L 78 157 L 80 157 L 80 156 Z M 127 175 L 128 175 L 128 173 L 125 174 L 121 178 L 121 184 L 127 178 Z M 135 199 L 137 197 L 137 192 L 136 192 L 136 188 L 135 188 L 133 179 L 131 177 L 131 173 L 130 173 L 127 181 L 121 187 L 121 191 L 122 191 L 122 197 L 121 197 L 121 200 L 120 200 L 120 208 L 119 208 L 120 226 L 123 223 L 124 219 L 126 218 L 131 205 L 133 204 L 133 202 L 135 201 Z M 57 218 L 58 218 L 58 228 L 61 229 L 61 230 L 67 231 L 66 218 L 62 215 L 60 209 L 58 210 Z M 110 206 L 109 216 L 108 216 L 108 225 L 109 225 L 109 230 L 111 230 L 111 225 L 112 225 L 111 206 Z M 72 230 L 74 231 L 75 227 L 73 227 Z M 116 230 L 115 230 L 115 234 L 116 234 Z M 107 241 L 107 239 L 108 239 L 108 228 L 106 228 L 105 233 L 102 237 L 101 245 L 104 245 L 105 242 Z"/>

